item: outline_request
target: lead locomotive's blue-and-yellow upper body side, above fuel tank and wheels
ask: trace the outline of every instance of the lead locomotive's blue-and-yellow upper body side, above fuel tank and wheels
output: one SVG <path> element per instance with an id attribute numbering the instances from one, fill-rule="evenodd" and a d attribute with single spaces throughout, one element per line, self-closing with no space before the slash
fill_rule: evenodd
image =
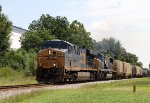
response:
<path id="1" fill-rule="evenodd" d="M 79 53 L 65 53 L 65 69 L 67 71 L 97 71 L 98 59 L 86 55 L 85 49 L 80 49 Z"/>

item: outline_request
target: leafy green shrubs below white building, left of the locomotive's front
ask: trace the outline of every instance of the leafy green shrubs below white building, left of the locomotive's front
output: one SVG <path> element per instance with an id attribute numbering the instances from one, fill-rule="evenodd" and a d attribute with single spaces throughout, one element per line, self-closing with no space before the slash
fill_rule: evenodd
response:
<path id="1" fill-rule="evenodd" d="M 17 51 L 10 50 L 5 53 L 5 58 L 2 59 L 1 66 L 24 71 L 26 75 L 35 75 L 36 53 L 32 50 L 29 52 L 23 49 Z"/>

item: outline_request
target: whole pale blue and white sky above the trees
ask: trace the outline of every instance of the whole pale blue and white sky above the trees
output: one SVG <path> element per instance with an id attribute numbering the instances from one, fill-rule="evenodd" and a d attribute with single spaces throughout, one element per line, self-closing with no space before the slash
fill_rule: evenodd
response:
<path id="1" fill-rule="evenodd" d="M 0 0 L 13 25 L 28 29 L 42 14 L 83 23 L 96 41 L 114 37 L 148 68 L 150 0 Z"/>

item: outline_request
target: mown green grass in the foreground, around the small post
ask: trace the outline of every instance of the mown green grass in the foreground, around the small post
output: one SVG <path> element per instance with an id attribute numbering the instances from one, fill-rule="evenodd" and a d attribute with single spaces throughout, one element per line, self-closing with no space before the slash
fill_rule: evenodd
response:
<path id="1" fill-rule="evenodd" d="M 133 85 L 136 92 L 133 93 Z M 42 90 L 1 103 L 150 103 L 150 78 L 87 85 L 78 89 Z"/>

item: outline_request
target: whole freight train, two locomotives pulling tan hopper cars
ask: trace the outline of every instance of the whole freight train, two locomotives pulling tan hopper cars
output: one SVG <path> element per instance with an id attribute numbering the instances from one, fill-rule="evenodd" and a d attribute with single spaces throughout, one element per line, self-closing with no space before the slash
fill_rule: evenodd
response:
<path id="1" fill-rule="evenodd" d="M 104 80 L 147 76 L 147 69 L 114 60 L 103 54 L 78 48 L 63 40 L 42 44 L 37 54 L 39 83 Z"/>

